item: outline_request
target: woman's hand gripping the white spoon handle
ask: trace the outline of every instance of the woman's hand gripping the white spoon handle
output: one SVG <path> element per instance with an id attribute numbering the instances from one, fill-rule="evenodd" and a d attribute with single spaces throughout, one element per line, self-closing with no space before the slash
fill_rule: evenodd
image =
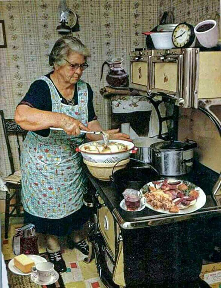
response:
<path id="1" fill-rule="evenodd" d="M 87 128 L 86 126 L 84 126 L 84 124 L 82 124 L 79 120 L 76 120 L 73 117 L 67 116 L 64 117 L 61 120 L 61 128 L 68 134 L 68 135 L 73 135 L 73 136 L 77 136 L 78 134 L 80 134 L 80 130 L 85 130 L 88 132 L 91 132 L 91 130 L 89 128 Z"/>

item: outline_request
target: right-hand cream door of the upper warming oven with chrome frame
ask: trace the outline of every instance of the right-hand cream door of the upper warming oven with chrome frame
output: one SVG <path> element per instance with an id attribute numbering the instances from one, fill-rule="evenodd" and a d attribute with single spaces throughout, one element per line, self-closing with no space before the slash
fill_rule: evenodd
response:
<path id="1" fill-rule="evenodd" d="M 153 50 L 149 94 L 175 100 L 183 108 L 198 107 L 199 49 Z"/>

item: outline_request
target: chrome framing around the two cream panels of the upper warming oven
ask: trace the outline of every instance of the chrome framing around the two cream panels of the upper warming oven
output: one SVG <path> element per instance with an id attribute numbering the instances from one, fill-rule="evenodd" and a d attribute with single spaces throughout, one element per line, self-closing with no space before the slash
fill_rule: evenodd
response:
<path id="1" fill-rule="evenodd" d="M 132 62 L 145 59 L 148 54 L 148 79 L 147 86 L 132 83 Z M 199 88 L 199 48 L 161 49 L 130 52 L 130 87 L 147 91 L 151 97 L 164 96 L 175 99 L 175 104 L 183 108 L 198 108 Z M 142 57 L 141 57 L 142 55 Z M 146 60 L 147 61 L 147 60 Z M 169 91 L 155 87 L 155 63 L 177 63 L 176 91 Z M 136 87 L 135 87 L 136 86 Z M 139 87 L 140 86 L 140 87 Z"/>

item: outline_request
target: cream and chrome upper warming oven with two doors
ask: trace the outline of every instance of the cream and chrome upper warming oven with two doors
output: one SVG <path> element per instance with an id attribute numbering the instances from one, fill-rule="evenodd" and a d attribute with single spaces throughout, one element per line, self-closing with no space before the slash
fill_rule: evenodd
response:
<path id="1" fill-rule="evenodd" d="M 130 52 L 130 88 L 198 108 L 200 99 L 220 98 L 220 66 L 221 51 L 141 49 Z"/>

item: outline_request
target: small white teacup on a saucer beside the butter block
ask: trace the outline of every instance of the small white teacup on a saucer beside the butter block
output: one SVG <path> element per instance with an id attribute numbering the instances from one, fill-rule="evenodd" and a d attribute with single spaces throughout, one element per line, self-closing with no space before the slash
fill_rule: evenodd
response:
<path id="1" fill-rule="evenodd" d="M 54 269 L 54 264 L 51 262 L 40 262 L 32 267 L 34 277 L 38 278 L 41 282 L 49 282 L 51 280 L 51 274 Z"/>

